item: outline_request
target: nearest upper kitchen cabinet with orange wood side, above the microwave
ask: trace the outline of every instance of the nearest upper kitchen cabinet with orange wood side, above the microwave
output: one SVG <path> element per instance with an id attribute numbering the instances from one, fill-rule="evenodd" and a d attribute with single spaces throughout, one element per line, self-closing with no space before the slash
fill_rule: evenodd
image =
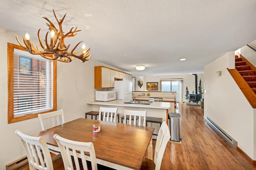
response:
<path id="1" fill-rule="evenodd" d="M 114 88 L 115 70 L 104 67 L 94 67 L 94 88 Z"/>

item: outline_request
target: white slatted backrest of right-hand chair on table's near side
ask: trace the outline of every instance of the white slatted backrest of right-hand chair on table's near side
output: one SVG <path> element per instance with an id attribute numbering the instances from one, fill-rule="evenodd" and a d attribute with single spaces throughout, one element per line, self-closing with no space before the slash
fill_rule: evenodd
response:
<path id="1" fill-rule="evenodd" d="M 74 162 L 77 170 L 80 170 L 78 158 L 82 159 L 82 165 L 84 170 L 87 170 L 86 159 L 90 159 L 92 164 L 92 170 L 97 170 L 97 160 L 92 142 L 72 141 L 60 137 L 57 134 L 55 134 L 53 137 L 60 148 L 60 153 L 64 162 L 65 170 L 74 170 L 71 156 L 74 157 Z M 90 156 L 87 156 L 84 152 L 89 152 Z"/>

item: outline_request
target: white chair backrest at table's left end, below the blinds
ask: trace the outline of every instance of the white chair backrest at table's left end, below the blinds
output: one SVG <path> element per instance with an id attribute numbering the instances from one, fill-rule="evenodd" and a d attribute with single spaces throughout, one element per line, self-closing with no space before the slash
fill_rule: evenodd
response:
<path id="1" fill-rule="evenodd" d="M 63 109 L 49 113 L 38 114 L 42 131 L 65 123 Z"/>

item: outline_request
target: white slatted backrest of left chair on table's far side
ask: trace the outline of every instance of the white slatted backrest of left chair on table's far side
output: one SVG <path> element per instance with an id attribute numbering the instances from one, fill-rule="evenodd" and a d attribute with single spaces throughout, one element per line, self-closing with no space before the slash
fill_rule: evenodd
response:
<path id="1" fill-rule="evenodd" d="M 100 107 L 99 113 L 102 113 L 102 112 L 103 112 L 103 117 L 102 117 L 103 121 L 116 122 L 117 107 Z M 99 115 L 99 120 L 101 120 L 100 115 Z"/>

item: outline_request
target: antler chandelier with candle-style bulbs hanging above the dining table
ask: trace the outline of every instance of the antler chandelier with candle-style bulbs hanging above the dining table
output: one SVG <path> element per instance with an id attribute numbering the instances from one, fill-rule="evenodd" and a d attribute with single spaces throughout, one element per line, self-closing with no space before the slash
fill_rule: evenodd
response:
<path id="1" fill-rule="evenodd" d="M 66 16 L 66 14 L 64 15 L 64 17 L 62 19 L 60 19 L 60 21 L 58 21 L 58 18 L 56 17 L 54 10 L 53 10 L 53 14 L 54 14 L 55 19 L 58 22 L 59 30 L 56 29 L 54 24 L 50 20 L 48 20 L 48 18 L 43 17 L 45 20 L 47 20 L 49 22 L 49 23 L 46 23 L 46 25 L 49 27 L 49 30 L 50 30 L 50 44 L 48 43 L 48 40 L 47 40 L 49 31 L 46 33 L 46 36 L 44 39 L 45 45 L 43 45 L 41 38 L 40 38 L 40 30 L 41 29 L 39 29 L 38 30 L 38 40 L 40 42 L 40 46 L 42 47 L 41 51 L 38 49 L 37 46 L 35 48 L 34 45 L 30 43 L 30 36 L 29 36 L 28 32 L 26 33 L 25 37 L 22 36 L 23 42 L 26 47 L 20 43 L 20 41 L 18 40 L 18 37 L 16 36 L 16 39 L 17 39 L 18 43 L 20 44 L 20 46 L 23 47 L 26 51 L 28 51 L 31 54 L 41 55 L 42 57 L 49 59 L 49 60 L 58 60 L 58 61 L 62 61 L 65 63 L 71 62 L 74 59 L 74 57 L 77 59 L 80 59 L 80 61 L 82 63 L 89 60 L 91 57 L 91 54 L 89 53 L 91 48 L 89 48 L 88 50 L 85 50 L 85 44 L 82 45 L 82 51 L 81 51 L 80 55 L 76 55 L 76 53 L 80 50 L 74 51 L 76 49 L 76 47 L 82 41 L 80 41 L 76 46 L 74 46 L 74 48 L 71 51 L 68 51 L 68 48 L 70 47 L 70 45 L 68 45 L 68 46 L 65 45 L 65 41 L 64 41 L 65 38 L 74 37 L 77 34 L 77 32 L 81 31 L 81 30 L 76 30 L 77 29 L 77 27 L 76 27 L 74 29 L 74 31 L 72 31 L 72 29 L 74 28 L 74 27 L 72 27 L 68 33 L 64 34 L 63 29 L 62 29 L 62 22 Z"/>

